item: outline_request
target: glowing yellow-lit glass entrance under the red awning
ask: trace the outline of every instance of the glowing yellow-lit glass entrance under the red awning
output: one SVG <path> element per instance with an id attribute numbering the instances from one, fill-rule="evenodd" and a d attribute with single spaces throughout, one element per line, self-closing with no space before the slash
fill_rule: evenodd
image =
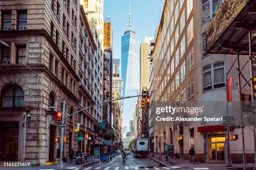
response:
<path id="1" fill-rule="evenodd" d="M 209 162 L 225 163 L 225 137 L 211 137 L 209 140 L 212 141 L 209 141 Z"/>

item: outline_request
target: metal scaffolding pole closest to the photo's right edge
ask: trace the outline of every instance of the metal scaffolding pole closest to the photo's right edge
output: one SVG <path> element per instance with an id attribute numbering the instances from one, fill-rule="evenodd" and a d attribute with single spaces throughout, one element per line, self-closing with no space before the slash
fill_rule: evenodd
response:
<path id="1" fill-rule="evenodd" d="M 251 106 L 252 114 L 254 107 L 254 86 L 253 86 L 253 57 L 251 52 L 251 29 L 248 29 L 248 39 L 249 39 L 249 59 L 250 59 L 250 73 L 251 73 Z M 256 168 L 256 138 L 255 138 L 255 115 L 253 114 L 253 143 L 254 143 L 254 169 Z"/>

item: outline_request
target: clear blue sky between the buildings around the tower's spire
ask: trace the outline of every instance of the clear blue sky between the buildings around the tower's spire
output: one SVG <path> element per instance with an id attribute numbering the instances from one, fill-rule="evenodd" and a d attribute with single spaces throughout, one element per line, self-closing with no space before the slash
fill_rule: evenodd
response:
<path id="1" fill-rule="evenodd" d="M 104 0 L 104 18 L 110 17 L 113 28 L 113 58 L 121 57 L 121 36 L 129 29 L 131 3 L 131 28 L 139 37 L 151 37 L 159 25 L 165 0 Z M 153 34 L 154 36 L 154 34 Z"/>

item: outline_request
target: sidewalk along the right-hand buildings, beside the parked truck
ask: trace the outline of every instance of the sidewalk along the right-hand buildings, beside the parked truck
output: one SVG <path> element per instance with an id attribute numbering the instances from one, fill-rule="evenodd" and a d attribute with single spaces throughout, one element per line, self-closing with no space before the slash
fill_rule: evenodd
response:
<path id="1" fill-rule="evenodd" d="M 243 169 L 243 164 L 233 164 L 233 167 L 226 167 L 226 164 L 224 163 L 199 163 L 199 162 L 189 163 L 189 160 L 184 160 L 179 158 L 169 158 L 167 163 L 164 155 L 162 155 L 162 160 L 159 160 L 159 154 L 157 154 L 157 158 L 156 158 L 156 154 L 154 155 L 154 157 L 152 157 L 151 155 L 148 155 L 148 158 L 169 168 L 177 166 L 177 167 L 186 168 L 186 169 L 193 169 L 193 168 L 209 168 L 210 170 Z M 254 167 L 254 163 L 246 163 L 246 168 L 253 169 L 253 167 Z"/>

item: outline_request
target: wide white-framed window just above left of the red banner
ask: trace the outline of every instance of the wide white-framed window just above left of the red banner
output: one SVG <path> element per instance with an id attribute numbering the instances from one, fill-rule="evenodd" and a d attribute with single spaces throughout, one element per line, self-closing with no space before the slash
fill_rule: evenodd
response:
<path id="1" fill-rule="evenodd" d="M 225 87 L 225 62 L 217 62 L 203 68 L 203 90 Z"/>

